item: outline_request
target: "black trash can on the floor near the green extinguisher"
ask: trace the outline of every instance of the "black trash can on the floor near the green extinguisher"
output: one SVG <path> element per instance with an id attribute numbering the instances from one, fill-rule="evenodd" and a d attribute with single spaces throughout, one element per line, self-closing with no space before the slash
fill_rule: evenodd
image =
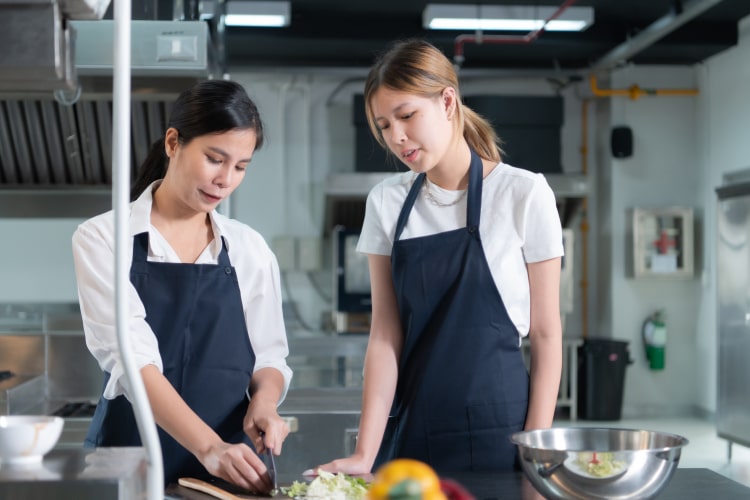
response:
<path id="1" fill-rule="evenodd" d="M 625 369 L 631 363 L 628 342 L 589 338 L 578 348 L 578 417 L 619 420 Z"/>

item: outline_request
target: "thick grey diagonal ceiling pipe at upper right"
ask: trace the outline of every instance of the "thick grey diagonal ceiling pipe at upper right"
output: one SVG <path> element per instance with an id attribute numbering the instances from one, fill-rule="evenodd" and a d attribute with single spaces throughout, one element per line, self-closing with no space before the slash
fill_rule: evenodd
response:
<path id="1" fill-rule="evenodd" d="M 682 4 L 682 9 L 673 10 L 650 24 L 646 29 L 636 36 L 610 50 L 601 59 L 596 61 L 591 69 L 603 71 L 618 66 L 623 61 L 633 57 L 638 52 L 650 47 L 656 41 L 673 32 L 683 24 L 701 15 L 722 0 L 687 0 Z"/>

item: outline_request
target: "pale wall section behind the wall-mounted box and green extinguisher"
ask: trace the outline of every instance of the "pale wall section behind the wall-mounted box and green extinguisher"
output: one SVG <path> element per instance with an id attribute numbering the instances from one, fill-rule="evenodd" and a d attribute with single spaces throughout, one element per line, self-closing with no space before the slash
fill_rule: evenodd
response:
<path id="1" fill-rule="evenodd" d="M 696 88 L 693 68 L 627 67 L 612 74 L 611 88 L 638 85 L 646 89 Z M 700 196 L 701 162 L 696 145 L 696 97 L 647 96 L 611 98 L 610 126 L 627 125 L 633 131 L 633 154 L 626 159 L 609 158 L 599 163 L 608 169 L 611 218 L 602 221 L 611 229 L 609 330 L 615 339 L 629 341 L 634 363 L 627 368 L 623 412 L 663 414 L 690 411 L 694 405 L 696 378 L 696 304 L 700 279 L 687 280 L 632 277 L 628 263 L 628 212 L 634 207 L 684 206 L 695 209 L 702 219 Z M 598 132 L 609 135 L 599 123 Z M 605 143 L 609 147 L 608 143 Z M 606 154 L 601 155 L 606 158 Z M 606 260 L 606 259 L 605 259 Z M 700 272 L 700 267 L 698 268 Z M 657 309 L 667 315 L 669 341 L 666 369 L 652 371 L 645 358 L 641 328 Z"/>

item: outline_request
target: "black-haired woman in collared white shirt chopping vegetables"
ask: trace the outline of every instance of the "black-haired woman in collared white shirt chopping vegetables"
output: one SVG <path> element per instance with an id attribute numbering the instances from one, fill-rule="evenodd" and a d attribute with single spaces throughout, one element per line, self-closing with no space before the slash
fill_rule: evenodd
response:
<path id="1" fill-rule="evenodd" d="M 159 426 L 164 477 L 219 477 L 267 492 L 258 454 L 289 433 L 277 406 L 291 370 L 276 258 L 216 211 L 239 186 L 263 126 L 243 87 L 203 81 L 176 100 L 133 185 L 127 335 Z M 86 445 L 140 446 L 115 335 L 114 218 L 73 235 L 86 343 L 104 371 Z"/>

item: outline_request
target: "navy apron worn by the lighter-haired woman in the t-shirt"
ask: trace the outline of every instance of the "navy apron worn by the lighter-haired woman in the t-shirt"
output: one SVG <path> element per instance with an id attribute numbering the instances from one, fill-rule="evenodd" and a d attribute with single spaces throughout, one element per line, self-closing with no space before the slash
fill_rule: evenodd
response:
<path id="1" fill-rule="evenodd" d="M 375 466 L 404 457 L 439 473 L 513 470 L 529 376 L 479 237 L 482 161 L 471 153 L 466 227 L 400 239 L 425 174 L 396 224 L 391 267 L 404 344 Z"/>

